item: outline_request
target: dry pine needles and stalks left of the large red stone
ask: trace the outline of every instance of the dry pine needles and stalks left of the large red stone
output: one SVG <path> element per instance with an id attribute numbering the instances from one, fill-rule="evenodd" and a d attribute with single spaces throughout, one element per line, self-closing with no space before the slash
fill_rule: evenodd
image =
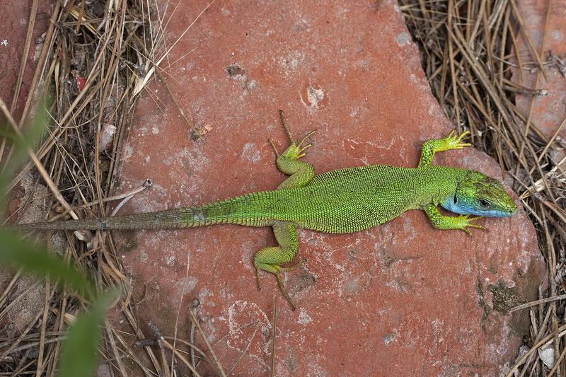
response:
<path id="1" fill-rule="evenodd" d="M 137 95 L 146 90 L 156 75 L 162 74 L 156 66 L 174 47 L 168 46 L 166 50 L 161 37 L 164 23 L 174 11 L 158 9 L 154 3 L 141 0 L 71 0 L 64 7 L 62 1 L 55 1 L 30 85 L 32 94 L 27 98 L 22 117 L 13 119 L 15 101 L 8 108 L 0 100 L 0 110 L 19 132 L 33 117 L 38 99 L 45 94 L 52 98 L 48 109 L 52 122 L 35 152 L 29 151 L 30 163 L 19 170 L 8 187 L 16 187 L 16 191 L 23 187 L 28 194 L 28 191 L 37 192 L 45 181 L 47 188 L 43 187 L 43 197 L 28 195 L 18 216 L 37 201 L 44 206 L 40 216 L 47 213 L 50 219 L 77 218 L 78 213 L 81 217 L 102 216 L 108 214 L 109 202 L 122 199 L 123 203 L 144 189 L 145 185 L 141 185 L 126 195 L 110 197 L 116 182 L 120 145 Z M 30 19 L 35 20 L 36 16 L 37 0 L 31 7 Z M 33 23 L 30 23 L 25 51 L 30 49 L 32 31 Z M 22 80 L 23 67 L 14 98 L 19 96 Z M 11 145 L 2 141 L 0 156 L 4 159 L 0 163 L 8 161 L 12 154 Z M 191 335 L 190 342 L 171 340 L 163 337 L 156 326 L 138 322 L 129 279 L 110 234 L 98 232 L 91 236 L 86 232 L 69 232 L 65 237 L 58 248 L 66 260 L 91 272 L 100 289 L 118 287 L 124 292 L 115 306 L 113 320 L 105 321 L 100 372 L 172 376 L 179 370 L 190 370 L 198 376 L 195 365 L 204 361 L 215 373 L 225 375 L 198 323 L 197 333 L 204 339 L 206 351 L 192 344 L 198 335 Z M 78 242 L 77 238 L 88 242 Z M 49 280 L 16 294 L 15 287 L 23 284 L 21 273 L 10 277 L 6 289 L 0 293 L 0 307 L 10 308 L 14 303 L 28 300 L 25 295 L 37 286 L 42 286 L 45 293 L 35 306 L 27 306 L 31 317 L 25 328 L 7 331 L 4 327 L 0 331 L 0 370 L 11 375 L 54 376 L 65 330 L 84 309 L 83 300 L 67 290 L 54 289 Z M 190 308 L 195 318 L 193 311 Z M 6 312 L 0 317 L 5 318 Z M 127 325 L 115 327 L 120 320 Z M 149 327 L 152 333 L 144 334 L 141 327 Z"/>

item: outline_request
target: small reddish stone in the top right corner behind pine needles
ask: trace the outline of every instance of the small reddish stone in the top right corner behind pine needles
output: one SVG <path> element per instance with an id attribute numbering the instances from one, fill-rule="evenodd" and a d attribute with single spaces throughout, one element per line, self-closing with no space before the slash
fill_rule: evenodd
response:
<path id="1" fill-rule="evenodd" d="M 550 8 L 548 8 L 549 4 Z M 528 41 L 521 34 L 518 37 L 521 60 L 524 65 L 531 63 L 526 65 L 531 69 L 523 69 L 522 77 L 519 70 L 515 69 L 513 81 L 526 88 L 541 89 L 548 93 L 544 96 L 537 95 L 534 97 L 518 94 L 516 95 L 516 105 L 521 113 L 527 116 L 532 102 L 531 121 L 547 137 L 552 137 L 558 126 L 566 119 L 566 101 L 564 100 L 566 98 L 566 23 L 564 22 L 566 2 L 519 0 L 518 5 L 519 12 L 524 18 L 526 30 L 528 30 L 537 52 L 541 51 L 545 16 L 548 8 L 548 21 L 545 26 L 541 57 L 543 62 L 546 63 L 546 79 L 542 72 L 537 69 L 538 66 Z M 539 76 L 538 86 L 535 85 L 537 75 Z M 560 136 L 562 139 L 566 137 L 566 127 L 562 126 Z M 560 160 L 563 156 L 563 152 L 560 152 L 556 157 Z"/>

